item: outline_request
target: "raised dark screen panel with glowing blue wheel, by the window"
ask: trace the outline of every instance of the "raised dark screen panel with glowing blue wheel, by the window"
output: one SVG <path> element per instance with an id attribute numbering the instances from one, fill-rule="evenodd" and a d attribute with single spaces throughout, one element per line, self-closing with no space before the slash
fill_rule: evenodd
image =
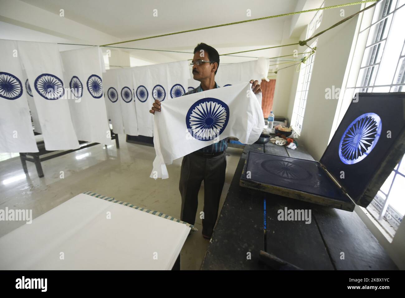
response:
<path id="1" fill-rule="evenodd" d="M 383 158 L 393 153 L 392 145 L 405 128 L 405 93 L 359 93 L 356 101 L 320 160 L 354 201 L 382 166 Z"/>

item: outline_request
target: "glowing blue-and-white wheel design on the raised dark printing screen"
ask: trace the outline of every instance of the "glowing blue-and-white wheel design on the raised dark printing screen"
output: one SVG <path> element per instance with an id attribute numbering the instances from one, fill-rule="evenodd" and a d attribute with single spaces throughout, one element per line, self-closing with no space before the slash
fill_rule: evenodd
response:
<path id="1" fill-rule="evenodd" d="M 346 128 L 339 143 L 339 157 L 344 164 L 362 161 L 374 149 L 381 135 L 382 121 L 375 113 L 366 113 Z"/>

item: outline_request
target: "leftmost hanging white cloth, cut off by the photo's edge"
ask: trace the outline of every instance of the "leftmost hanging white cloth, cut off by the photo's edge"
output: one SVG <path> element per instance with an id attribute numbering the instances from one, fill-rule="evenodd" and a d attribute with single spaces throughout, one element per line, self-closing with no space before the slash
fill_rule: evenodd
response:
<path id="1" fill-rule="evenodd" d="M 0 39 L 0 152 L 38 152 L 28 92 L 17 43 Z"/>

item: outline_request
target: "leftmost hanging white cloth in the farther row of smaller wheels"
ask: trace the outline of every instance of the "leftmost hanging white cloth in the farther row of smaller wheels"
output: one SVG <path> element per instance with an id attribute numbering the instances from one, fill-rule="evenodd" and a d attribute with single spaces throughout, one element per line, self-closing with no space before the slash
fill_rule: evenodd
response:
<path id="1" fill-rule="evenodd" d="M 102 75 L 105 92 L 105 103 L 107 114 L 113 126 L 115 134 L 124 134 L 124 125 L 122 122 L 120 95 L 118 92 L 116 69 L 107 70 Z"/>

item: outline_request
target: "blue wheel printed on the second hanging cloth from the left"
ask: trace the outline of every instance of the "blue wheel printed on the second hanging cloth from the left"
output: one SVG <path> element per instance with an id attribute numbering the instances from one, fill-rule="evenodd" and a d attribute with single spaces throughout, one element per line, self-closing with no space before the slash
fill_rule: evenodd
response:
<path id="1" fill-rule="evenodd" d="M 40 96 L 49 100 L 59 99 L 64 94 L 62 80 L 50 73 L 39 75 L 34 81 L 34 87 Z"/>

